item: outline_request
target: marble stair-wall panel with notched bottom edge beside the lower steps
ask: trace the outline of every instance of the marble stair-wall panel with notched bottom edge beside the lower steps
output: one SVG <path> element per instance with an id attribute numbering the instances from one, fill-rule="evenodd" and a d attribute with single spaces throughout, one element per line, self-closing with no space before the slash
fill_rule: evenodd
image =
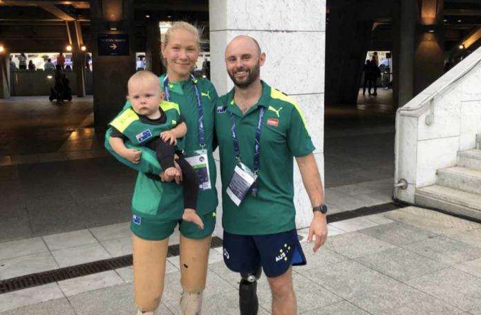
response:
<path id="1" fill-rule="evenodd" d="M 416 187 L 435 184 L 437 169 L 455 166 L 458 162 L 459 146 L 459 136 L 419 141 Z"/>

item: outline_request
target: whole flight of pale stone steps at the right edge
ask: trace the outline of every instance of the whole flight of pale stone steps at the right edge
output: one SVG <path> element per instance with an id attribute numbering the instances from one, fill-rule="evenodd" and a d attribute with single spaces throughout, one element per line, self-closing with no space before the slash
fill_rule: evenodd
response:
<path id="1" fill-rule="evenodd" d="M 458 165 L 437 170 L 436 184 L 416 189 L 415 204 L 481 220 L 481 135 L 477 149 L 458 152 Z"/>

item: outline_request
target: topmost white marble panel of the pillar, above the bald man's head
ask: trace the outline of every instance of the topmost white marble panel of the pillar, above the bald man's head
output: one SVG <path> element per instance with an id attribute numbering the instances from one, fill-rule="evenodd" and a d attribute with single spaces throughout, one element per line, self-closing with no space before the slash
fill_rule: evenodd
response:
<path id="1" fill-rule="evenodd" d="M 211 31 L 326 30 L 326 0 L 210 0 L 209 10 L 225 12 L 211 19 Z"/>

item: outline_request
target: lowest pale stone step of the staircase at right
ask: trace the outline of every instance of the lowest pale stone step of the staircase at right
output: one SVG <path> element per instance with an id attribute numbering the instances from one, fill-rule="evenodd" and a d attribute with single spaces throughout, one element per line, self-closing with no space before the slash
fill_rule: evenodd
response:
<path id="1" fill-rule="evenodd" d="M 481 195 L 432 185 L 416 189 L 415 204 L 481 220 Z"/>

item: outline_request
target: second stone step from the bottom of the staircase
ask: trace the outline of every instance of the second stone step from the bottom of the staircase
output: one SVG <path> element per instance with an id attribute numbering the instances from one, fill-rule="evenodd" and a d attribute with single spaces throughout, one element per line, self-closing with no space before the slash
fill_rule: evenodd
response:
<path id="1" fill-rule="evenodd" d="M 438 169 L 436 184 L 468 193 L 481 193 L 481 171 L 462 166 Z"/>

